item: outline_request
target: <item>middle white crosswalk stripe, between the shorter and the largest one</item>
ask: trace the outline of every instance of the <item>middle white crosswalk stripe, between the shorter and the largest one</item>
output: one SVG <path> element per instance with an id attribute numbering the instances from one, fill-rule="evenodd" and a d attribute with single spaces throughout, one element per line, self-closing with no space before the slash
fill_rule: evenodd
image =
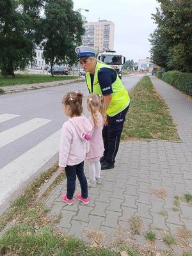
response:
<path id="1" fill-rule="evenodd" d="M 33 118 L 27 122 L 12 127 L 6 131 L 0 133 L 0 148 L 4 147 L 8 143 L 19 139 L 20 137 L 28 134 L 29 132 L 35 131 L 42 125 L 51 122 L 49 119 L 44 118 Z"/>

